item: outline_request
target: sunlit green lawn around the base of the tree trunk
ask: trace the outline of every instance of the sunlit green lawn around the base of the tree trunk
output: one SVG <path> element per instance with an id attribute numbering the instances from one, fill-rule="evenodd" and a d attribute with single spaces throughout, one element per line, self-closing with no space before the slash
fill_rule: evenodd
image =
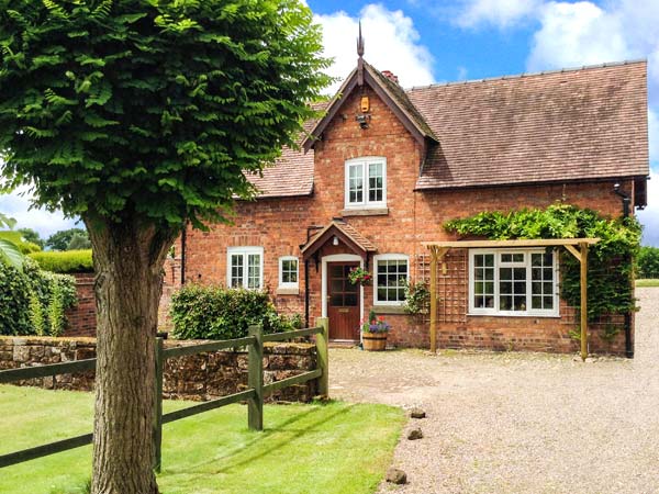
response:
<path id="1" fill-rule="evenodd" d="M 92 415 L 90 393 L 0 385 L 0 454 L 85 434 Z M 231 405 L 165 425 L 158 484 L 163 494 L 372 493 L 404 420 L 384 405 L 266 405 L 255 433 L 246 407 Z M 2 469 L 0 492 L 81 494 L 90 472 L 87 446 Z"/>

